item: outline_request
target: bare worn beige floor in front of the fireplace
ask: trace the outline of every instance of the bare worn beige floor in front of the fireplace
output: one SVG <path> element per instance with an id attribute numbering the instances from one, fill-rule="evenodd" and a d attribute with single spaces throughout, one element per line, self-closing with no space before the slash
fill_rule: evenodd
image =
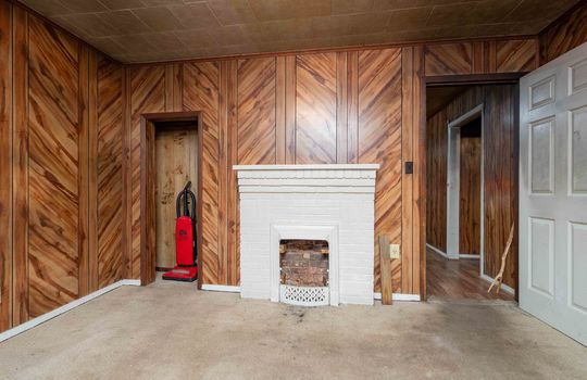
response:
<path id="1" fill-rule="evenodd" d="M 0 343 L 1 379 L 587 379 L 511 303 L 300 308 L 157 282 Z"/>

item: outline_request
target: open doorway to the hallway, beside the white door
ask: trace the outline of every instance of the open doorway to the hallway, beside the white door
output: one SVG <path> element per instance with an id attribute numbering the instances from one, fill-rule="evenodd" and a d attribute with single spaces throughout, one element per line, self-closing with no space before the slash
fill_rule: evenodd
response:
<path id="1" fill-rule="evenodd" d="M 433 299 L 514 301 L 516 237 L 499 294 L 511 226 L 517 231 L 517 80 L 426 88 L 426 288 Z"/>

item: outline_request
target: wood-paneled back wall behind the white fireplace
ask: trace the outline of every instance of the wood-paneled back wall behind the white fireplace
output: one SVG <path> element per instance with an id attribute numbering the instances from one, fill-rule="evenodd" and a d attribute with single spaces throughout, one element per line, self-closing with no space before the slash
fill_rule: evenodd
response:
<path id="1" fill-rule="evenodd" d="M 402 245 L 395 291 L 420 293 L 423 78 L 526 72 L 537 56 L 536 39 L 502 39 L 129 66 L 133 277 L 140 274 L 140 115 L 202 111 L 203 283 L 239 283 L 233 164 L 379 163 L 376 233 Z M 407 161 L 414 175 L 403 173 Z"/>

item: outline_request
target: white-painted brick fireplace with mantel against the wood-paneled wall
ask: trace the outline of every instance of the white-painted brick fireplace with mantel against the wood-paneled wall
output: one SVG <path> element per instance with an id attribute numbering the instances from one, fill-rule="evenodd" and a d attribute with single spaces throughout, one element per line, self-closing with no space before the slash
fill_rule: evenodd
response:
<path id="1" fill-rule="evenodd" d="M 328 287 L 322 301 L 330 305 L 373 304 L 378 167 L 234 166 L 240 197 L 241 296 L 286 302 L 279 277 L 279 242 L 325 240 L 329 248 Z"/>

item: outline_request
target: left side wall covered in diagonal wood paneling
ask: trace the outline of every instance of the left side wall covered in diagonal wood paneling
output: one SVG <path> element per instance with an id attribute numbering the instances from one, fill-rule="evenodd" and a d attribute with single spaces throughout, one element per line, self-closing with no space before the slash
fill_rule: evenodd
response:
<path id="1" fill-rule="evenodd" d="M 0 1 L 0 331 L 124 278 L 123 67 Z"/>

